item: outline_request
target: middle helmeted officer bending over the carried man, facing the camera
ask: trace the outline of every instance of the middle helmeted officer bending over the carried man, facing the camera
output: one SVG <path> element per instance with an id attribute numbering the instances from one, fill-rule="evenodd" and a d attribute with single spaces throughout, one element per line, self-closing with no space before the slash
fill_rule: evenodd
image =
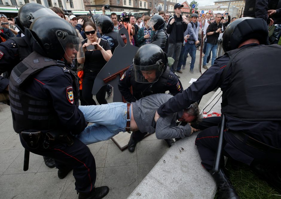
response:
<path id="1" fill-rule="evenodd" d="M 169 70 L 167 64 L 167 54 L 159 46 L 146 44 L 138 49 L 133 65 L 126 70 L 118 84 L 118 88 L 126 101 L 135 102 L 142 97 L 165 93 L 165 91 L 170 91 L 172 95 L 180 93 L 183 90 L 181 82 Z M 151 67 L 155 65 L 157 70 L 154 77 L 145 74 L 146 70 L 151 70 Z M 135 70 L 136 68 L 139 70 Z M 131 86 L 133 94 L 130 92 Z M 128 143 L 128 150 L 134 152 L 138 141 L 141 141 L 146 134 L 147 132 L 133 132 Z M 173 139 L 165 139 L 165 141 L 169 146 L 174 142 Z"/>

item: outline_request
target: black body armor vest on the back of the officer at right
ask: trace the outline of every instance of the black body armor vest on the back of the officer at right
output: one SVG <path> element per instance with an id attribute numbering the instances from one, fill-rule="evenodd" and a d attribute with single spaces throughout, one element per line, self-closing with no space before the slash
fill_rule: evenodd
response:
<path id="1" fill-rule="evenodd" d="M 222 113 L 240 120 L 281 120 L 280 52 L 277 44 L 226 52 L 233 60 L 231 67 L 227 64 L 231 76 L 222 96 Z"/>

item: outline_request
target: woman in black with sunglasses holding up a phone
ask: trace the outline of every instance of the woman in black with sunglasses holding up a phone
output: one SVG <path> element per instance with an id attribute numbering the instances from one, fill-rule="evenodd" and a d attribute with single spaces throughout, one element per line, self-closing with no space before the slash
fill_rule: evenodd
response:
<path id="1" fill-rule="evenodd" d="M 80 64 L 84 63 L 82 97 L 88 105 L 96 105 L 92 95 L 94 80 L 106 62 L 109 61 L 112 53 L 107 40 L 97 37 L 96 26 L 93 22 L 85 22 L 84 27 L 87 36 L 87 39 L 82 42 L 85 57 L 78 59 Z M 87 50 L 87 46 L 91 45 L 96 46 L 96 49 Z M 105 99 L 106 87 L 106 85 L 103 86 L 100 91 L 97 92 L 96 98 L 99 104 L 107 104 Z"/>

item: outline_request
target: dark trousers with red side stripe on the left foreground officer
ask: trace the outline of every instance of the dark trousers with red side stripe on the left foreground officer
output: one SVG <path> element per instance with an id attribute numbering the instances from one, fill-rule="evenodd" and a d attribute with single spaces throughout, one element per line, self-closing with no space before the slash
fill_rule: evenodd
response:
<path id="1" fill-rule="evenodd" d="M 37 149 L 28 147 L 19 134 L 22 146 L 41 156 L 48 156 L 55 159 L 55 165 L 59 169 L 73 168 L 75 178 L 75 189 L 78 192 L 88 193 L 93 189 L 96 182 L 96 163 L 90 149 L 77 138 L 73 138 L 74 144 L 70 147 L 67 144 L 53 144 L 47 149 L 42 144 Z"/>

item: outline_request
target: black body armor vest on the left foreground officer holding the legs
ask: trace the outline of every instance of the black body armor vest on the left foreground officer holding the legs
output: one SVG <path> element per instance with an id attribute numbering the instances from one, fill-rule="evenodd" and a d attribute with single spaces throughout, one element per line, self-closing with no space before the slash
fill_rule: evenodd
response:
<path id="1" fill-rule="evenodd" d="M 59 118 L 51 101 L 25 93 L 25 82 L 36 73 L 50 66 L 59 66 L 69 70 L 73 81 L 74 102 L 79 104 L 79 84 L 75 72 L 65 66 L 63 61 L 43 57 L 32 52 L 12 70 L 9 84 L 10 107 L 13 117 L 13 128 L 20 133 L 24 129 L 50 130 L 59 129 Z M 54 88 L 55 89 L 55 88 Z"/>

